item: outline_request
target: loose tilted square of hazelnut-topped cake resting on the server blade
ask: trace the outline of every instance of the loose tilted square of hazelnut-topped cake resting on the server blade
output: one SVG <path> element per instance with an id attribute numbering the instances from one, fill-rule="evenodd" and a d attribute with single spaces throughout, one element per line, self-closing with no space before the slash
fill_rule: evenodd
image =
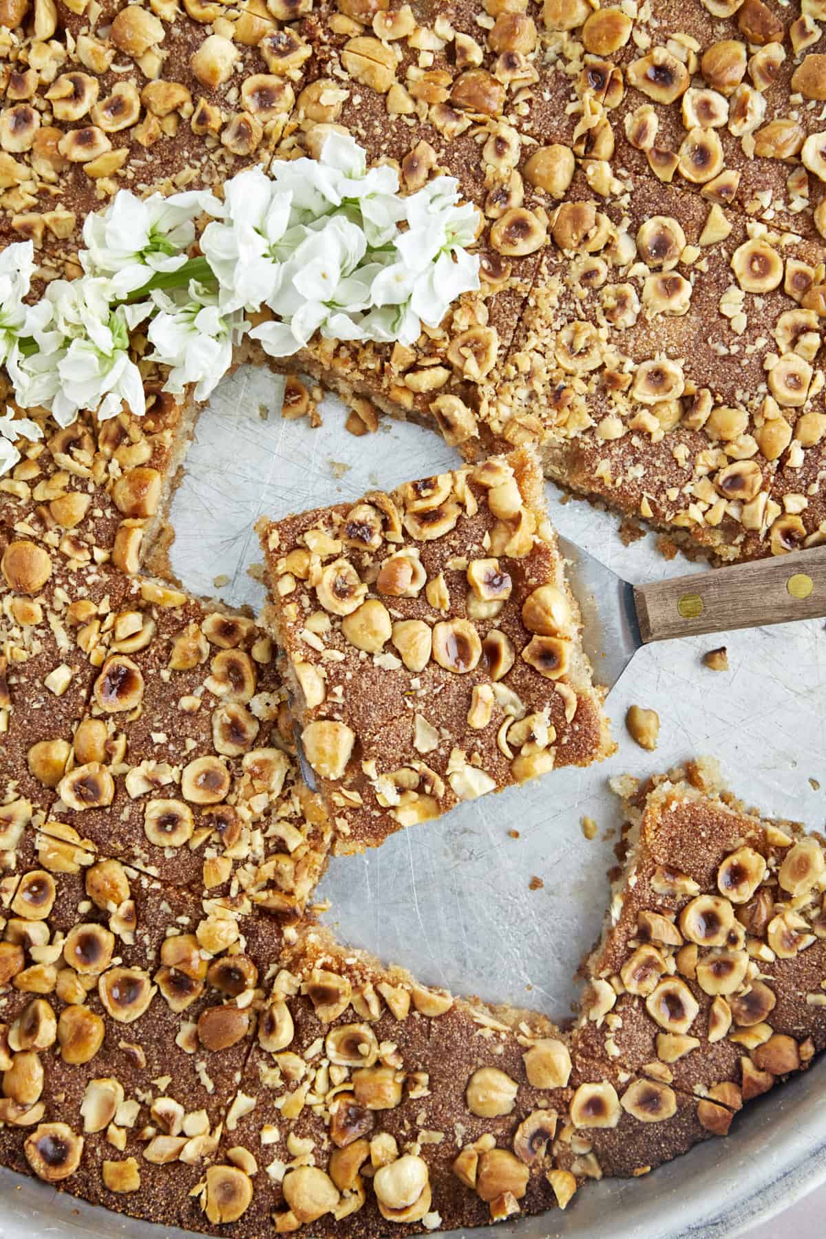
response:
<path id="1" fill-rule="evenodd" d="M 612 752 L 533 450 L 259 533 L 339 854 Z"/>

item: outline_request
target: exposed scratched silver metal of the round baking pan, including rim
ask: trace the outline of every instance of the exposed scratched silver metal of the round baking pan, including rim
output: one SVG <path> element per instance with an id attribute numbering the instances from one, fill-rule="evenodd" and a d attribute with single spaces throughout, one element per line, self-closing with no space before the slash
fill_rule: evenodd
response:
<path id="1" fill-rule="evenodd" d="M 322 406 L 320 429 L 282 421 L 280 394 L 279 379 L 249 368 L 222 384 L 198 422 L 173 503 L 175 571 L 188 589 L 229 603 L 258 607 L 264 600 L 249 574 L 261 558 L 253 530 L 259 515 L 355 499 L 457 463 L 437 436 L 411 425 L 385 421 L 378 434 L 354 439 L 332 400 Z M 680 558 L 663 559 L 650 536 L 624 546 L 615 518 L 565 502 L 550 486 L 549 504 L 565 536 L 632 581 L 690 570 Z M 703 652 L 723 643 L 731 670 L 703 668 Z M 644 777 L 711 752 L 748 802 L 822 826 L 825 689 L 822 621 L 644 648 L 609 699 L 619 742 L 611 761 L 487 797 L 400 831 L 378 851 L 332 861 L 320 888 L 331 903 L 326 919 L 344 942 L 404 964 L 426 983 L 562 1017 L 608 898 L 606 875 L 620 828 L 608 778 L 627 771 Z M 632 703 L 660 716 L 654 753 L 624 731 Z M 582 834 L 583 817 L 599 828 L 591 841 Z M 518 839 L 509 836 L 514 828 Z M 726 1141 L 703 1145 L 650 1177 L 603 1181 L 565 1214 L 516 1220 L 497 1234 L 739 1234 L 826 1178 L 825 1085 L 821 1062 L 753 1105 Z M 154 1239 L 156 1233 L 0 1172 L 0 1239 Z"/>

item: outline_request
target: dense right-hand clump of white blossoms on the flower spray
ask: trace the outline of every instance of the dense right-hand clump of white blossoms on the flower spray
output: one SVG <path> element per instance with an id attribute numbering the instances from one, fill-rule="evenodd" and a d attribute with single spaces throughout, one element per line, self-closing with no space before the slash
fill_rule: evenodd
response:
<path id="1" fill-rule="evenodd" d="M 422 322 L 438 326 L 452 301 L 478 289 L 479 260 L 466 252 L 477 228 L 452 177 L 401 197 L 394 169 L 368 170 L 360 146 L 332 133 L 318 160 L 234 177 L 201 247 L 222 307 L 269 309 L 276 318 L 250 336 L 290 357 L 317 331 L 412 344 Z"/>

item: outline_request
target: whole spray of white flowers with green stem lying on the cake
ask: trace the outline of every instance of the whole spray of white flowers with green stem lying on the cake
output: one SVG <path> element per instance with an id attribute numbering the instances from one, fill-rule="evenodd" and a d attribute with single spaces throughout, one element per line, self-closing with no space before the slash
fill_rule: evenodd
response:
<path id="1" fill-rule="evenodd" d="M 211 222 L 196 252 L 196 222 Z M 250 169 L 207 191 L 136 198 L 121 190 L 83 227 L 77 280 L 54 280 L 38 301 L 31 242 L 0 253 L 0 364 L 16 403 L 59 425 L 82 409 L 113 418 L 145 411 L 130 332 L 145 326 L 150 361 L 168 367 L 167 392 L 194 384 L 203 400 L 227 373 L 244 333 L 291 357 L 320 332 L 329 339 L 412 344 L 452 301 L 478 289 L 469 254 L 477 211 L 441 176 L 409 197 L 391 167 L 329 134 L 318 160 Z M 266 316 L 250 330 L 245 313 Z M 15 456 L 0 419 L 0 473 Z M 22 427 L 26 429 L 22 429 Z M 14 421 L 31 437 L 35 422 Z"/>

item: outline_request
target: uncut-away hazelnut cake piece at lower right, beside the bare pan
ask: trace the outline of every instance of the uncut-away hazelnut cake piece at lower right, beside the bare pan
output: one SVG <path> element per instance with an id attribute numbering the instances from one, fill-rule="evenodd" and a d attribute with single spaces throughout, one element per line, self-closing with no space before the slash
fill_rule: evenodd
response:
<path id="1" fill-rule="evenodd" d="M 619 783 L 628 859 L 576 1053 L 703 1098 L 715 1123 L 826 1046 L 822 840 L 757 817 L 708 760 Z"/>

